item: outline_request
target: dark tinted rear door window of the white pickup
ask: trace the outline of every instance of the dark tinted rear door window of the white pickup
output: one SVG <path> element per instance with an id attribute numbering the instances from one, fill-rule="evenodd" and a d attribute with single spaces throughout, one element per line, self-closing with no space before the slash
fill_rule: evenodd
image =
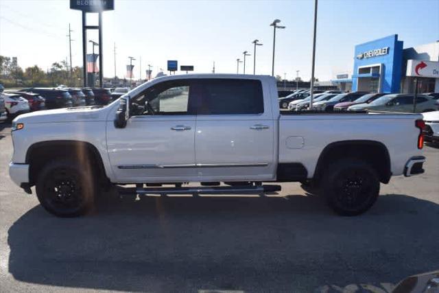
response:
<path id="1" fill-rule="evenodd" d="M 263 113 L 263 93 L 259 80 L 201 79 L 200 115 L 248 115 Z"/>

